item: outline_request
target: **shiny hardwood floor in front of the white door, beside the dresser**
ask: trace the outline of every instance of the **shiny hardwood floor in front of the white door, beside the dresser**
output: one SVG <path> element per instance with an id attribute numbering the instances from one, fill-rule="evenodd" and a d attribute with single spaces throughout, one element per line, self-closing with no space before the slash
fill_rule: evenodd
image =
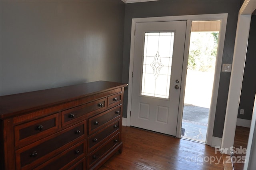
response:
<path id="1" fill-rule="evenodd" d="M 99 170 L 223 170 L 222 154 L 205 144 L 122 126 L 122 154 Z"/>

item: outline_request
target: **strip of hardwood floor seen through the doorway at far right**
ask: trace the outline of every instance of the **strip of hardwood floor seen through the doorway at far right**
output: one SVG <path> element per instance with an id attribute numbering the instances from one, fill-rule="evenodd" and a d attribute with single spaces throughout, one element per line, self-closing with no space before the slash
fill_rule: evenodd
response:
<path id="1" fill-rule="evenodd" d="M 235 133 L 235 139 L 234 139 L 234 147 L 235 148 L 247 148 L 248 144 L 248 138 L 249 138 L 250 128 L 245 128 L 241 126 L 236 126 L 236 133 Z M 241 156 L 245 156 L 246 154 L 234 154 L 235 159 L 233 162 L 234 170 L 243 170 L 244 164 L 240 163 Z"/>

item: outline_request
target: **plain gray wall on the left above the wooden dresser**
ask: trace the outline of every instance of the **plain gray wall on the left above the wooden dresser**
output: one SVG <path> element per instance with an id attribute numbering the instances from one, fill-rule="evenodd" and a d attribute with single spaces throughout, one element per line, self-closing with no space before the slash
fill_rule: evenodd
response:
<path id="1" fill-rule="evenodd" d="M 122 1 L 0 1 L 0 94 L 122 81 Z"/>

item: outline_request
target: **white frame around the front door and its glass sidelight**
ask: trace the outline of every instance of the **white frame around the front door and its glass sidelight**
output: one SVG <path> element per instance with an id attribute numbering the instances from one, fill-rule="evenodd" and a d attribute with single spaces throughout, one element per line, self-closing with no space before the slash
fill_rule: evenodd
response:
<path id="1" fill-rule="evenodd" d="M 127 119 L 126 126 L 130 126 L 130 112 L 131 112 L 131 101 L 132 101 L 132 72 L 133 72 L 133 62 L 134 62 L 134 40 L 135 40 L 135 26 L 138 22 L 159 22 L 159 21 L 176 21 L 176 20 L 186 20 L 187 28 L 186 28 L 186 40 L 185 40 L 185 48 L 184 48 L 184 62 L 182 69 L 182 84 L 181 87 L 185 86 L 186 80 L 186 69 L 188 63 L 188 52 L 189 52 L 189 42 L 190 42 L 190 32 L 191 32 L 191 24 L 192 21 L 200 21 L 200 20 L 221 20 L 220 23 L 220 35 L 218 42 L 218 51 L 217 51 L 217 60 L 216 60 L 216 70 L 214 76 L 214 84 L 213 84 L 213 94 L 212 94 L 212 102 L 210 106 L 210 115 L 209 115 L 209 123 L 208 123 L 208 135 L 206 138 L 206 144 L 212 145 L 212 134 L 214 127 L 214 118 L 216 112 L 216 104 L 217 104 L 217 96 L 218 96 L 218 87 L 220 82 L 220 72 L 222 65 L 222 54 L 226 33 L 226 23 L 227 23 L 228 14 L 204 14 L 204 15 L 188 15 L 188 16 L 165 16 L 165 17 L 151 17 L 151 18 L 132 18 L 132 28 L 131 28 L 131 49 L 130 49 L 130 67 L 129 67 L 129 82 L 130 85 L 128 88 L 128 106 L 127 106 Z M 183 104 L 184 104 L 184 95 L 185 88 L 181 88 L 180 90 L 180 104 L 179 104 L 179 112 L 178 112 L 178 120 L 177 120 L 177 133 L 176 137 L 180 138 L 181 124 L 182 124 L 182 114 L 183 114 Z M 124 123 L 125 124 L 125 123 Z"/>

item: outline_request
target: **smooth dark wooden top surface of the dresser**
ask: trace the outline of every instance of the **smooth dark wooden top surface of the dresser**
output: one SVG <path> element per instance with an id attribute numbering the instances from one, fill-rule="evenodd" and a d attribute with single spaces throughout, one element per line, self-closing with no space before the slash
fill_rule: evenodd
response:
<path id="1" fill-rule="evenodd" d="M 124 83 L 97 81 L 33 92 L 0 96 L 1 119 L 15 116 L 20 112 L 29 112 L 50 107 L 70 100 L 91 96 L 115 88 L 127 86 Z"/>

